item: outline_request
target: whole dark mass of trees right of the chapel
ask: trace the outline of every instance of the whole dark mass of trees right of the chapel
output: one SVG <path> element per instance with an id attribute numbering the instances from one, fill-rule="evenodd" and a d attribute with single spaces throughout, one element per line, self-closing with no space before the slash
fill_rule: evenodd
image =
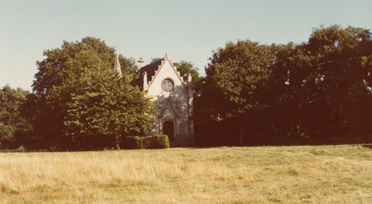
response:
<path id="1" fill-rule="evenodd" d="M 229 42 L 210 60 L 194 104 L 199 145 L 371 142 L 369 30 L 321 26 L 299 45 Z"/>

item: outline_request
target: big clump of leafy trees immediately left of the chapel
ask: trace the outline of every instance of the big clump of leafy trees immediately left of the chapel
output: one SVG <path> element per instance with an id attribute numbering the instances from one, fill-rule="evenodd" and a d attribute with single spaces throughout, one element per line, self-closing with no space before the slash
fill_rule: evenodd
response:
<path id="1" fill-rule="evenodd" d="M 92 140 L 111 141 L 112 136 L 140 134 L 150 127 L 146 120 L 153 109 L 150 99 L 129 84 L 137 70 L 134 59 L 119 57 L 123 73 L 119 79 L 112 69 L 114 49 L 100 39 L 64 42 L 44 55 L 45 60 L 36 62 L 35 96 L 28 102 L 40 147 L 112 147 L 113 143 Z"/>

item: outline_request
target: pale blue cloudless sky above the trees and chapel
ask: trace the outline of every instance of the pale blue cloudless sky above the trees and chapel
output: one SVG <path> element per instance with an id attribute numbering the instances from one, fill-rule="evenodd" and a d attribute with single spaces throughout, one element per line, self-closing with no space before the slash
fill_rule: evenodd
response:
<path id="1" fill-rule="evenodd" d="M 118 53 L 145 64 L 167 50 L 204 73 L 212 50 L 227 41 L 304 42 L 321 23 L 372 29 L 372 0 L 0 0 L 0 86 L 31 90 L 36 60 L 62 40 L 118 42 Z"/>

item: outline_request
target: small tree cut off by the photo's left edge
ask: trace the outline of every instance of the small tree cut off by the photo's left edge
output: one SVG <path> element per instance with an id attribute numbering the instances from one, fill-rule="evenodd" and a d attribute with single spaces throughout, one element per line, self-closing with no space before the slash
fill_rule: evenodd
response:
<path id="1" fill-rule="evenodd" d="M 28 94 L 21 88 L 12 89 L 5 85 L 0 90 L 0 147 L 16 147 L 16 139 L 30 128 L 28 121 L 20 112 L 25 96 Z"/>

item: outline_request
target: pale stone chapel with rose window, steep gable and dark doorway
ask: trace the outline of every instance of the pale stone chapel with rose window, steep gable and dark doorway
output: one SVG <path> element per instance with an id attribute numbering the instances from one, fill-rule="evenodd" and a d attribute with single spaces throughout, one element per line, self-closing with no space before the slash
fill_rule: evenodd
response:
<path id="1" fill-rule="evenodd" d="M 142 58 L 138 62 L 141 63 L 138 70 L 140 77 L 132 85 L 147 92 L 153 103 L 160 105 L 157 107 L 158 114 L 151 119 L 153 129 L 146 135 L 168 135 L 173 147 L 193 146 L 195 138 L 194 123 L 190 117 L 193 112 L 191 76 L 188 76 L 186 82 L 183 81 L 168 53 L 162 59 L 143 67 Z M 114 69 L 119 72 L 119 63 L 115 62 Z"/>

